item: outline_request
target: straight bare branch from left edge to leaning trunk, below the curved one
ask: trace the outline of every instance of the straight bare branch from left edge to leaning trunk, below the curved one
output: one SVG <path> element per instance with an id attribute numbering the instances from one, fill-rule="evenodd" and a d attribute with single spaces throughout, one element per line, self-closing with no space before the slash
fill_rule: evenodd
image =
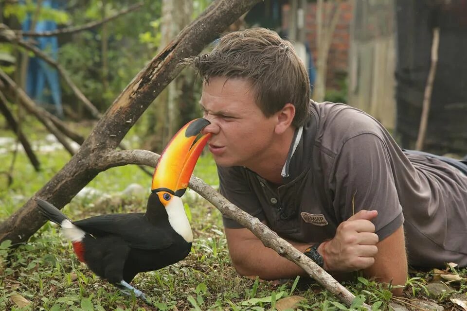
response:
<path id="1" fill-rule="evenodd" d="M 0 69 L 1 80 L 12 90 L 19 98 L 19 104 L 21 104 L 29 113 L 36 116 L 36 118 L 44 124 L 44 126 L 54 134 L 57 140 L 65 147 L 65 149 L 74 155 L 76 150 L 72 147 L 70 142 L 66 139 L 62 132 L 60 132 L 54 123 L 47 117 L 47 113 L 44 109 L 38 107 L 34 101 L 3 71 Z"/>

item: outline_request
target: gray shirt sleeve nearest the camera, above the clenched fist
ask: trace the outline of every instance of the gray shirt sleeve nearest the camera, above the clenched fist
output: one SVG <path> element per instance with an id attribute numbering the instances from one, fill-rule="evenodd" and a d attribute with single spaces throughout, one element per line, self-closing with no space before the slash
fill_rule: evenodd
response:
<path id="1" fill-rule="evenodd" d="M 377 210 L 372 220 L 379 241 L 404 222 L 389 151 L 377 135 L 347 140 L 335 163 L 334 209 L 345 221 L 361 209 Z"/>

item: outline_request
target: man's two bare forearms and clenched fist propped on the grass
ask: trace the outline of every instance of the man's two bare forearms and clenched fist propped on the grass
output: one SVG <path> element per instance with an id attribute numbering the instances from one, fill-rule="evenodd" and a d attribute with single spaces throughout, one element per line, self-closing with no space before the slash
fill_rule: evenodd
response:
<path id="1" fill-rule="evenodd" d="M 391 282 L 392 285 L 404 285 L 407 278 L 407 259 L 403 228 L 401 226 L 380 242 L 377 242 L 377 238 L 375 241 L 374 237 L 368 239 L 368 233 L 371 232 L 364 230 L 372 231 L 372 229 L 368 229 L 371 222 L 365 218 L 375 217 L 372 216 L 372 212 L 360 211 L 354 218 L 341 224 L 342 228 L 333 240 L 320 245 L 318 252 L 325 257 L 324 268 L 337 278 L 339 278 L 339 273 L 364 269 L 366 277 L 375 277 L 379 282 Z M 355 235 L 355 232 L 359 234 Z M 232 262 L 240 275 L 259 276 L 263 279 L 306 275 L 295 263 L 264 246 L 263 242 L 250 230 L 225 228 L 225 233 Z M 346 239 L 350 239 L 351 242 L 344 242 Z M 291 243 L 301 252 L 312 244 Z M 347 245 L 344 246 L 344 243 Z M 375 244 L 377 254 L 373 249 Z M 339 251 L 335 248 L 336 245 L 341 246 Z M 370 253 L 367 253 L 368 249 Z M 402 288 L 395 289 L 393 292 L 396 295 L 402 294 Z"/>

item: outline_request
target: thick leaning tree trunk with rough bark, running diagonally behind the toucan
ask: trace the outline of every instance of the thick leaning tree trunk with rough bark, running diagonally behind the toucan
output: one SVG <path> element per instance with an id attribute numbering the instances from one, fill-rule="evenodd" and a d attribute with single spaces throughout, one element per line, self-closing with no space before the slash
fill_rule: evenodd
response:
<path id="1" fill-rule="evenodd" d="M 172 81 L 182 58 L 193 56 L 259 0 L 217 0 L 141 70 L 96 124 L 72 159 L 42 189 L 0 224 L 0 242 L 25 242 L 44 223 L 34 197 L 58 208 L 69 203 L 99 172 L 99 162 L 113 151 L 149 104 Z"/>

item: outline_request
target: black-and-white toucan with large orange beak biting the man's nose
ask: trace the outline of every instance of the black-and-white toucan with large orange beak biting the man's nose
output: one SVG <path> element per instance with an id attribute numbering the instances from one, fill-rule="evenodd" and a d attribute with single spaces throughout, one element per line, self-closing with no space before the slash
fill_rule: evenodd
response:
<path id="1" fill-rule="evenodd" d="M 139 272 L 154 271 L 184 259 L 193 232 L 181 196 L 210 134 L 196 119 L 183 126 L 162 152 L 152 179 L 145 213 L 107 214 L 71 221 L 52 204 L 37 198 L 40 212 L 60 225 L 78 259 L 124 294 L 146 296 L 129 283 Z"/>

